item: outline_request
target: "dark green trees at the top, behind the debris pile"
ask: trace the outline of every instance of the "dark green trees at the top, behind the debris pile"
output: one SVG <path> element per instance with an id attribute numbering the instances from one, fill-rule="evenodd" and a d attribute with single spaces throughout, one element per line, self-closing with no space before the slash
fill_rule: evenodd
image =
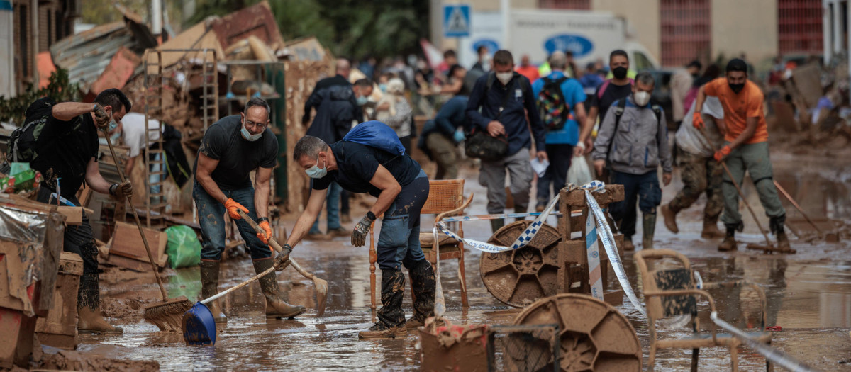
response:
<path id="1" fill-rule="evenodd" d="M 268 0 L 284 40 L 317 37 L 332 53 L 360 59 L 419 53 L 428 37 L 429 2 L 420 0 Z M 259 0 L 197 0 L 191 23 Z"/>

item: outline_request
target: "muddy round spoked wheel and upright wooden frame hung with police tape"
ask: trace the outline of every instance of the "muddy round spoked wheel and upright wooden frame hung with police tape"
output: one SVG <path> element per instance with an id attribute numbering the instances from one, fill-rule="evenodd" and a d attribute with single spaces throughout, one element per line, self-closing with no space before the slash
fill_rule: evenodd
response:
<path id="1" fill-rule="evenodd" d="M 624 200 L 624 186 L 606 185 L 605 193 L 591 193 L 597 204 L 607 209 L 615 201 Z M 526 307 L 547 296 L 559 293 L 590 294 L 588 256 L 585 249 L 585 191 L 562 189 L 559 193 L 558 228 L 541 225 L 538 233 L 523 248 L 499 253 L 483 253 L 479 274 L 485 287 L 501 302 L 513 307 Z M 488 243 L 511 246 L 531 221 L 505 225 Z M 576 235 L 575 238 L 574 234 Z M 614 234 L 619 255 L 623 255 L 623 235 Z M 603 290 L 608 289 L 608 255 L 600 245 L 600 268 Z M 603 294 L 607 302 L 620 304 L 622 290 Z"/>

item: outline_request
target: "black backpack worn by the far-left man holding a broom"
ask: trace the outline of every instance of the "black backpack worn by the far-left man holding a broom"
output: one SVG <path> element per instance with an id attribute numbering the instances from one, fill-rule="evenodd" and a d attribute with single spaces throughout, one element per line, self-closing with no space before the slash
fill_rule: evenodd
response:
<path id="1" fill-rule="evenodd" d="M 26 108 L 24 124 L 9 135 L 6 148 L 6 159 L 10 162 L 29 163 L 38 157 L 38 136 L 44 129 L 44 124 L 53 115 L 54 99 L 43 97 Z"/>

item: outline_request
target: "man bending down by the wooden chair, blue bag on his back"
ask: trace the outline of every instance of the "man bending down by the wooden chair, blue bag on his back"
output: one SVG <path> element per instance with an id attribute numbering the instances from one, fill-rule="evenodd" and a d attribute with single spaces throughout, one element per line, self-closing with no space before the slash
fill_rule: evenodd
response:
<path id="1" fill-rule="evenodd" d="M 288 246 L 298 244 L 316 220 L 332 182 L 351 192 L 369 193 L 378 198 L 351 233 L 352 245 L 366 244 L 370 226 L 376 217 L 384 214 L 375 248 L 381 269 L 379 320 L 369 330 L 359 332 L 358 337 L 394 338 L 407 335 L 407 329 L 425 324 L 426 318 L 434 313 L 435 279 L 431 263 L 426 261 L 420 248 L 420 210 L 426 204 L 429 190 L 426 172 L 420 164 L 407 153 L 395 155 L 345 140 L 325 144 L 322 139 L 311 136 L 295 144 L 293 159 L 308 177 L 313 178 L 313 190 L 289 236 Z M 416 298 L 414 317 L 407 323 L 402 310 L 403 266 L 408 268 Z"/>

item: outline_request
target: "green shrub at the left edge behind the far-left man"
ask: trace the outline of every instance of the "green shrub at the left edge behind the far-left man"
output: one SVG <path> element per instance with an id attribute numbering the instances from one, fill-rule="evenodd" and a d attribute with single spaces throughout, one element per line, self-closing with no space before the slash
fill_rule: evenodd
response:
<path id="1" fill-rule="evenodd" d="M 80 86 L 68 82 L 68 70 L 57 69 L 50 74 L 49 81 L 48 86 L 41 89 L 30 84 L 26 91 L 17 97 L 0 96 L 0 121 L 14 121 L 20 125 L 24 122 L 26 108 L 42 97 L 51 97 L 56 102 L 80 100 Z"/>

